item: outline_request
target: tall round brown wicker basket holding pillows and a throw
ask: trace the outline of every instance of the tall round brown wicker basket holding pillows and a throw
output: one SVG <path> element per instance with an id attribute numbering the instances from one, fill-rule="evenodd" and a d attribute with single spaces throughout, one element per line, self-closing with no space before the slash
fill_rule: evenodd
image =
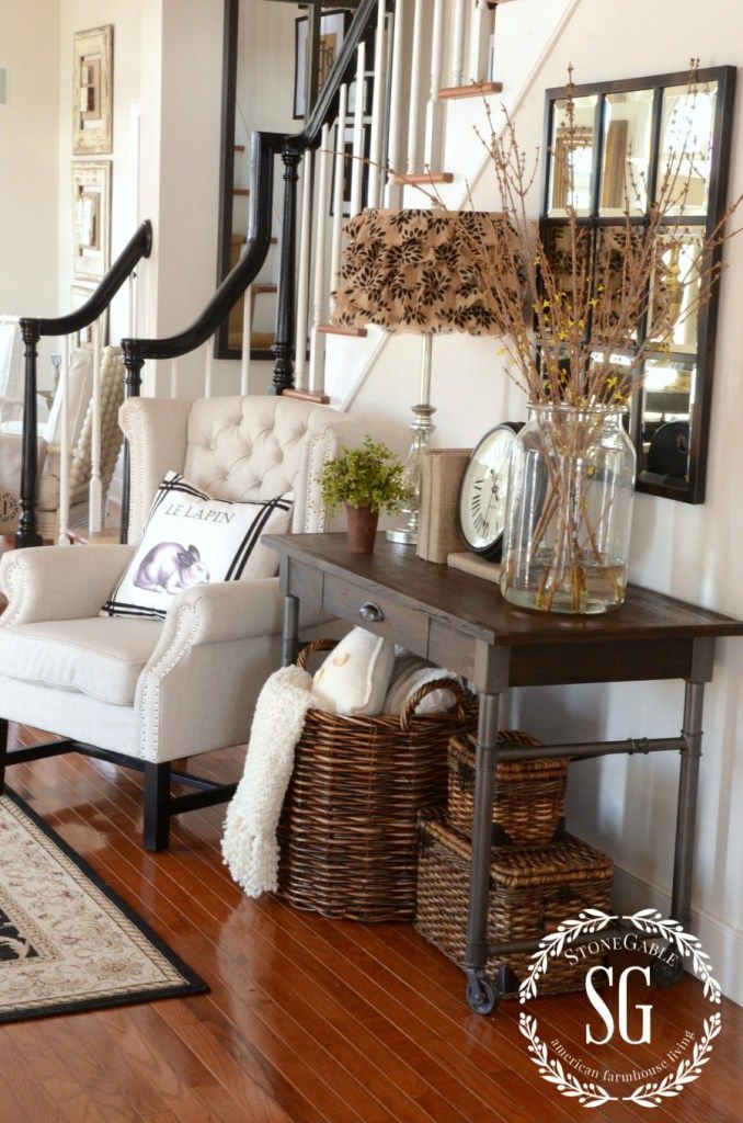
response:
<path id="1" fill-rule="evenodd" d="M 306 647 L 312 651 L 334 645 Z M 446 686 L 456 710 L 415 715 Z M 300 909 L 364 921 L 415 916 L 418 813 L 442 804 L 450 738 L 474 721 L 458 683 L 426 683 L 401 714 L 342 718 L 308 712 L 278 827 L 278 892 Z"/>

